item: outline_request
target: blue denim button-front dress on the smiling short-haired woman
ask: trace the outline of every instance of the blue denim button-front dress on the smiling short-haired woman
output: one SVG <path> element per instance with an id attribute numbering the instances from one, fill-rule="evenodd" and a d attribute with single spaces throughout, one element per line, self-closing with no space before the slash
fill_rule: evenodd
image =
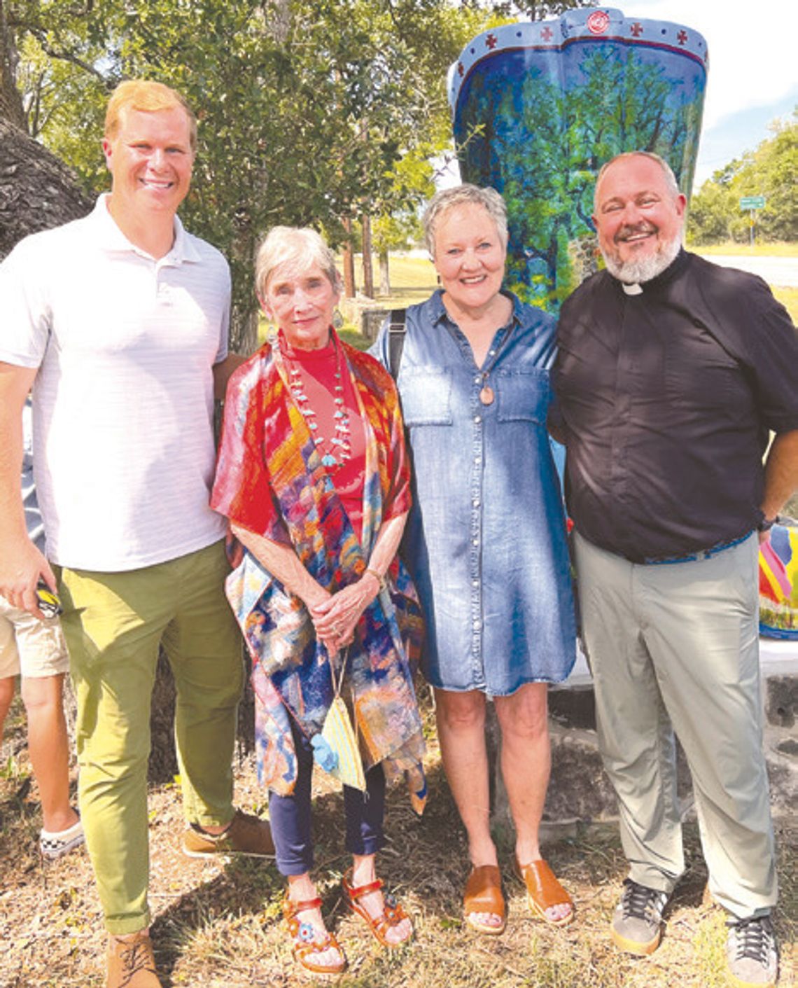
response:
<path id="1" fill-rule="evenodd" d="M 440 689 L 491 696 L 560 682 L 576 655 L 546 431 L 555 323 L 511 297 L 482 368 L 440 291 L 411 306 L 397 376 L 414 495 L 402 551 L 427 620 L 422 668 Z M 372 353 L 387 367 L 386 330 Z"/>

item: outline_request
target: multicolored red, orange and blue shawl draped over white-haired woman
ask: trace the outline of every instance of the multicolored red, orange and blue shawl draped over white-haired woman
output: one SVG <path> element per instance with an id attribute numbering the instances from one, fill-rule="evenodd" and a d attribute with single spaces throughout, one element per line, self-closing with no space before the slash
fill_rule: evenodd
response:
<path id="1" fill-rule="evenodd" d="M 331 592 L 359 579 L 382 522 L 410 507 L 393 380 L 372 358 L 337 343 L 365 432 L 362 545 L 290 394 L 274 337 L 230 381 L 211 499 L 214 510 L 232 522 L 290 544 Z M 344 696 L 354 701 L 363 766 L 383 762 L 389 780 L 406 778 L 421 812 L 424 740 L 413 688 L 421 608 L 398 558 L 387 582 L 360 618 Z M 226 592 L 253 658 L 259 777 L 288 793 L 296 780 L 288 716 L 308 736 L 321 730 L 333 699 L 327 652 L 302 602 L 250 552 L 228 577 Z"/>

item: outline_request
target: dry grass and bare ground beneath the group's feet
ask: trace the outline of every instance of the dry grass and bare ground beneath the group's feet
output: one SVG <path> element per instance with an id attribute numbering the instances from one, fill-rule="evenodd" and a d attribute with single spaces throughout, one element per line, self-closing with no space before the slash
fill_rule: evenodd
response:
<path id="1" fill-rule="evenodd" d="M 429 718 L 430 711 L 427 710 Z M 431 732 L 432 733 L 432 732 Z M 19 707 L 12 716 L 0 773 L 0 986 L 100 988 L 105 936 L 84 850 L 44 865 L 36 852 L 40 814 L 24 750 Z M 650 958 L 619 953 L 607 924 L 626 865 L 613 824 L 586 827 L 546 849 L 570 889 L 577 920 L 564 930 L 532 920 L 503 848 L 510 921 L 506 933 L 480 938 L 460 918 L 467 867 L 465 842 L 431 737 L 430 801 L 422 819 L 404 794 L 388 799 L 388 844 L 380 873 L 412 914 L 416 940 L 388 953 L 348 915 L 338 891 L 342 853 L 340 794 L 321 783 L 315 834 L 324 911 L 350 960 L 341 988 L 721 988 L 724 916 L 704 903 L 706 871 L 696 829 L 686 827 L 687 870 L 667 914 L 662 947 Z M 236 766 L 237 803 L 262 810 L 250 756 Z M 165 988 L 289 988 L 306 985 L 280 921 L 282 880 L 274 865 L 205 863 L 177 851 L 182 829 L 173 785 L 149 797 L 152 936 Z M 780 986 L 798 970 L 798 827 L 777 828 L 781 906 Z M 310 982 L 312 983 L 312 982 Z"/>

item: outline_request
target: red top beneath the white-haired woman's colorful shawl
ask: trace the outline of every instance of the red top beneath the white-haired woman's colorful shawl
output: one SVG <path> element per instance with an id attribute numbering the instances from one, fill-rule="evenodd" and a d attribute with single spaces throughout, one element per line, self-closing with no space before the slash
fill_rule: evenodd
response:
<path id="1" fill-rule="evenodd" d="M 319 350 L 299 350 L 293 348 L 281 332 L 279 334 L 279 348 L 288 371 L 294 368 L 299 371 L 302 390 L 307 395 L 307 404 L 312 409 L 318 425 L 318 428 L 313 430 L 314 439 L 318 435 L 323 437 L 323 441 L 317 443 L 319 454 L 332 453 L 338 460 L 339 465 L 328 466 L 327 471 L 344 504 L 352 527 L 360 539 L 363 521 L 365 432 L 360 419 L 355 387 L 344 355 L 339 355 L 332 338 L 326 347 Z M 336 377 L 336 373 L 339 368 L 341 369 L 340 383 L 343 386 L 343 391 L 337 392 L 335 388 L 336 384 L 339 383 L 339 378 Z M 337 395 L 344 399 L 343 405 L 336 405 Z M 300 408 L 305 405 L 304 402 L 297 402 L 297 404 Z M 335 418 L 335 413 L 339 408 L 349 416 L 351 457 L 344 463 L 341 462 L 342 447 L 330 444 L 330 439 L 333 436 L 341 435 L 336 432 L 336 426 L 341 421 Z"/>

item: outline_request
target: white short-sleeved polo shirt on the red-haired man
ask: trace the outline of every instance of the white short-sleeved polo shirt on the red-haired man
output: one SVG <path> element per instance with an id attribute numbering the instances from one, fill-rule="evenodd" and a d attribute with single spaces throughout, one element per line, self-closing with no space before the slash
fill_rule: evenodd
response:
<path id="1" fill-rule="evenodd" d="M 114 572 L 224 535 L 208 501 L 230 275 L 177 217 L 156 261 L 123 236 L 107 198 L 0 264 L 0 361 L 39 368 L 35 471 L 50 559 Z"/>

